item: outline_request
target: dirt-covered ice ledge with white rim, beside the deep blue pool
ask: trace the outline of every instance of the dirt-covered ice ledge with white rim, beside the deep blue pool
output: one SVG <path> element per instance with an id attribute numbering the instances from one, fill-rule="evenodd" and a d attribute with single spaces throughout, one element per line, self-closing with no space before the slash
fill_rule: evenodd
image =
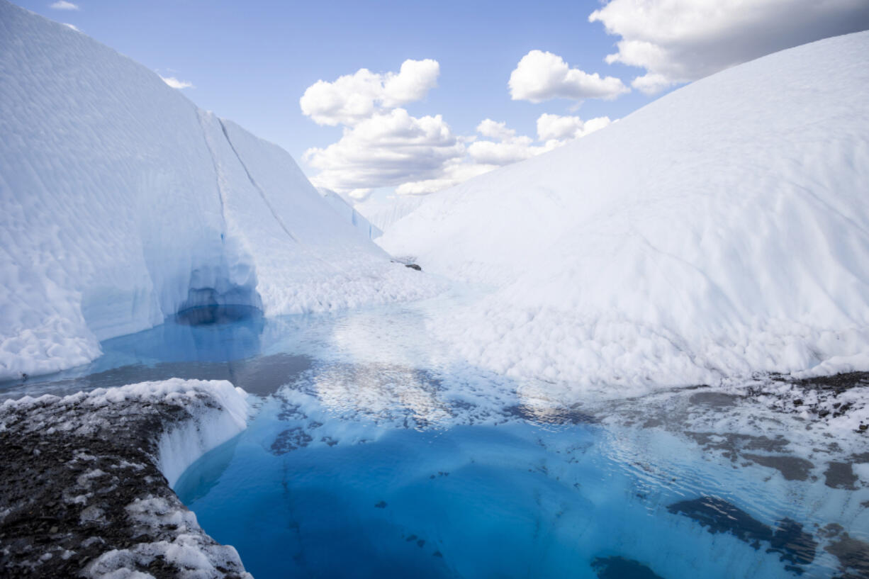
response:
<path id="1" fill-rule="evenodd" d="M 246 428 L 229 382 L 171 379 L 0 405 L 0 568 L 10 577 L 249 578 L 170 484 Z"/>

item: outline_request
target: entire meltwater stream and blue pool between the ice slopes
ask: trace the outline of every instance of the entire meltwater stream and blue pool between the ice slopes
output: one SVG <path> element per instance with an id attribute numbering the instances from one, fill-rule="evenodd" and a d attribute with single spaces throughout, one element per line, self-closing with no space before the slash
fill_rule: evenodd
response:
<path id="1" fill-rule="evenodd" d="M 257 579 L 869 577 L 869 456 L 837 478 L 823 436 L 714 389 L 547 397 L 469 367 L 426 325 L 466 298 L 190 310 L 0 396 L 246 389 L 249 428 L 175 490 Z"/>

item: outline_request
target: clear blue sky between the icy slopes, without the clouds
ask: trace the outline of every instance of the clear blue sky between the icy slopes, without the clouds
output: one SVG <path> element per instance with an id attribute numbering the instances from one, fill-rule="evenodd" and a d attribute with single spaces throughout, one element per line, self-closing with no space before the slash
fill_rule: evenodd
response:
<path id="1" fill-rule="evenodd" d="M 43 16 L 72 23 L 90 37 L 163 76 L 194 84 L 187 95 L 282 145 L 297 159 L 325 146 L 341 129 L 318 127 L 299 109 L 317 80 L 368 68 L 398 70 L 408 58 L 441 64 L 438 87 L 412 114 L 442 114 L 459 133 L 490 117 L 533 133 L 541 112 L 567 113 L 569 101 L 511 101 L 507 80 L 529 50 L 549 50 L 583 70 L 627 76 L 603 58 L 616 38 L 587 22 L 590 2 L 148 2 L 86 1 L 80 10 L 50 2 L 19 2 Z M 649 99 L 639 93 L 613 102 L 589 101 L 583 116 L 624 116 Z"/>

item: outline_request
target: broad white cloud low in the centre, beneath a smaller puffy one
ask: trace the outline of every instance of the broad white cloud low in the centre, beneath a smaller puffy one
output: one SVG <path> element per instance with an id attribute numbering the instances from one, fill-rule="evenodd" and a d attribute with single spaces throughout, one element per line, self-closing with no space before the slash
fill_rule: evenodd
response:
<path id="1" fill-rule="evenodd" d="M 302 159 L 320 170 L 315 185 L 359 197 L 365 190 L 441 178 L 464 150 L 441 115 L 417 118 L 394 109 L 356 122 L 337 143 L 308 149 Z"/>

